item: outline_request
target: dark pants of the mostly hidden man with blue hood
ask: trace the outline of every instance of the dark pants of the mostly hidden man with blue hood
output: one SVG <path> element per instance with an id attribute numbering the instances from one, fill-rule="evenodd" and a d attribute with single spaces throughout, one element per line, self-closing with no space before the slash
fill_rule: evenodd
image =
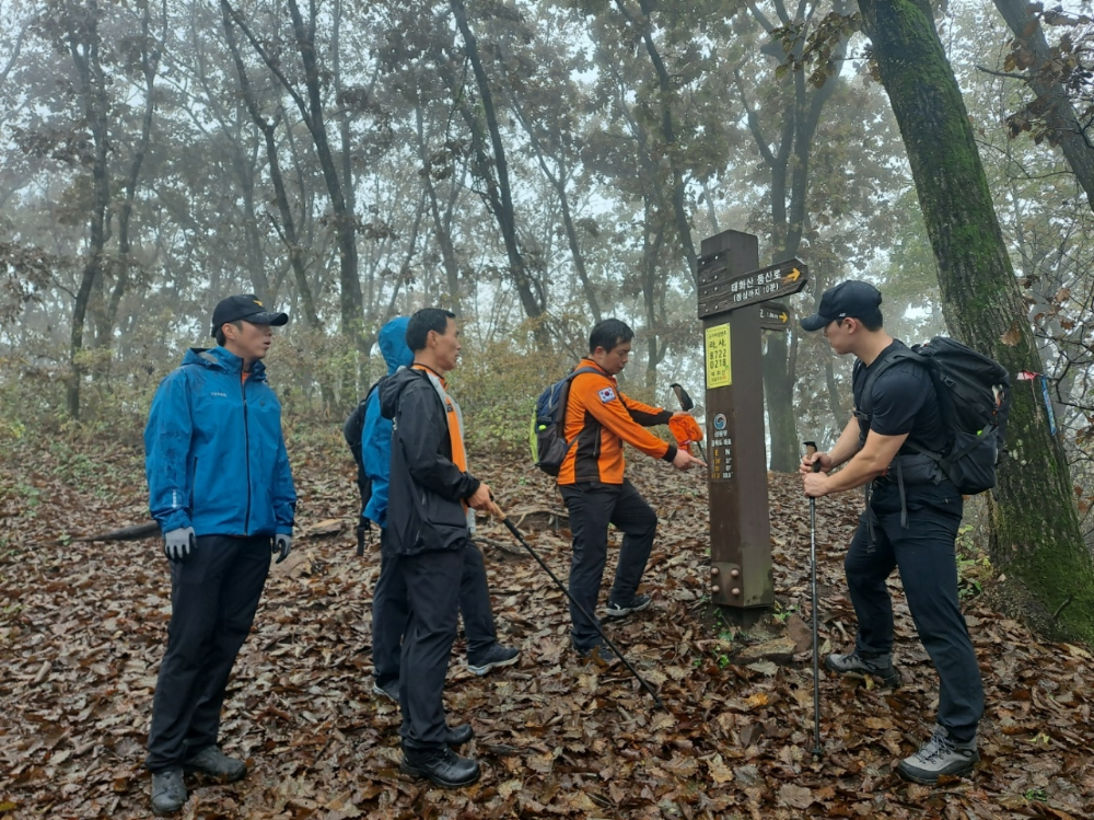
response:
<path id="1" fill-rule="evenodd" d="M 403 636 L 410 616 L 407 580 L 397 557 L 385 555 L 386 533 L 380 533 L 380 578 L 372 592 L 372 665 L 376 683 L 386 686 L 399 679 Z M 482 657 L 498 640 L 490 608 L 490 588 L 482 553 L 467 542 L 459 577 L 459 613 L 467 635 L 467 662 Z"/>

